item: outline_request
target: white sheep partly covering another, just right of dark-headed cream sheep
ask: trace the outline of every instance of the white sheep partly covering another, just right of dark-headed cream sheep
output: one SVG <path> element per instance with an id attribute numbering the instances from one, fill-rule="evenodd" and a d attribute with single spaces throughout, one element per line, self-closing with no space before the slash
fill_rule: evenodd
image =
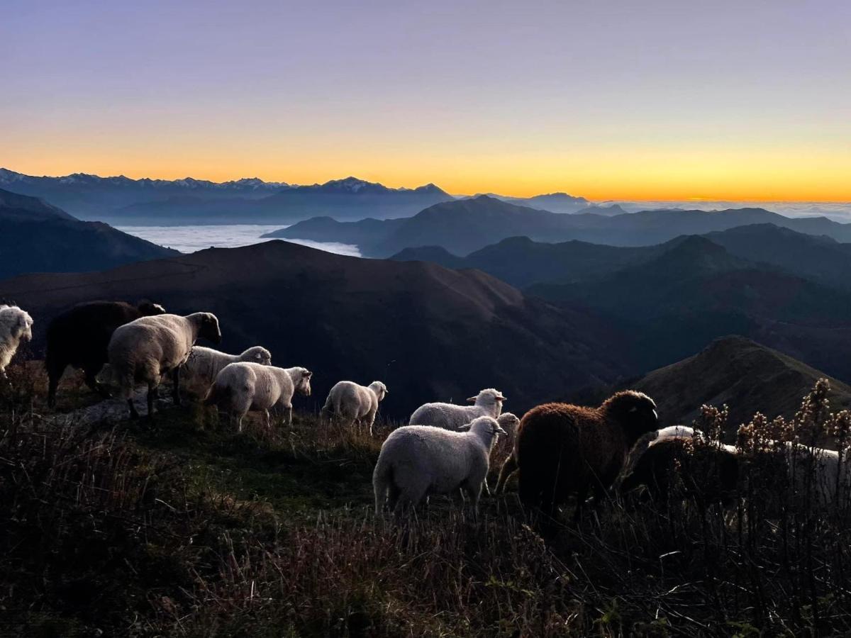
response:
<path id="1" fill-rule="evenodd" d="M 249 410 L 266 414 L 266 427 L 271 427 L 269 410 L 283 408 L 284 421 L 293 423 L 293 395 L 311 396 L 311 373 L 306 367 L 262 366 L 260 363 L 237 362 L 225 366 L 215 378 L 204 403 L 224 407 L 243 431 L 243 417 Z"/>

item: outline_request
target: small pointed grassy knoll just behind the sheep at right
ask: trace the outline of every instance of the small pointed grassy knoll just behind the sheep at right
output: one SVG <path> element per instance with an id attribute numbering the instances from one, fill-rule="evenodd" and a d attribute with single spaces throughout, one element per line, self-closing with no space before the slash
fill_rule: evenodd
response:
<path id="1" fill-rule="evenodd" d="M 648 373 L 630 387 L 647 392 L 664 425 L 691 424 L 703 404 L 730 408 L 728 432 L 761 412 L 791 417 L 802 396 L 828 375 L 744 337 L 724 337 L 683 361 Z M 831 407 L 851 407 L 851 387 L 831 379 Z"/>

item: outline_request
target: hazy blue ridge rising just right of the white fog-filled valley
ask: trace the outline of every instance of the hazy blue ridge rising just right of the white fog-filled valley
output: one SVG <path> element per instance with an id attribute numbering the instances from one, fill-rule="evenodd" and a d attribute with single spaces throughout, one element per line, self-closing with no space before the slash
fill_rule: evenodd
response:
<path id="1" fill-rule="evenodd" d="M 266 236 L 317 242 L 357 243 L 370 257 L 390 257 L 405 248 L 437 246 L 464 256 L 512 236 L 539 242 L 580 240 L 611 246 L 651 246 L 681 235 L 703 235 L 742 225 L 773 224 L 814 236 L 851 242 L 851 225 L 831 219 L 792 219 L 762 208 L 716 212 L 648 210 L 632 214 L 556 214 L 479 196 L 441 202 L 409 219 L 340 222 L 308 219 Z"/>

